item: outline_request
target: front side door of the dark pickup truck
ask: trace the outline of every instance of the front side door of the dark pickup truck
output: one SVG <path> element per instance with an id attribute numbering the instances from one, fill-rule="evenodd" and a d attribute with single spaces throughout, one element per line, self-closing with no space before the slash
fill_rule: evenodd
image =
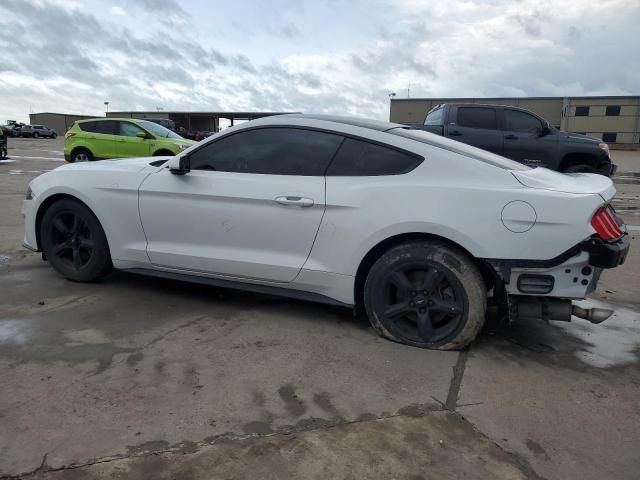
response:
<path id="1" fill-rule="evenodd" d="M 531 166 L 545 167 L 557 148 L 557 135 L 543 135 L 542 119 L 522 110 L 504 108 L 504 156 Z"/>

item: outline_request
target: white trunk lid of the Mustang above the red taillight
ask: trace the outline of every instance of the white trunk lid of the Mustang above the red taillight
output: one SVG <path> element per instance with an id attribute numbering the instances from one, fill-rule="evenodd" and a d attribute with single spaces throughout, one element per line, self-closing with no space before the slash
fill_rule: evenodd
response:
<path id="1" fill-rule="evenodd" d="M 541 190 L 575 194 L 595 193 L 605 201 L 611 200 L 616 193 L 610 178 L 595 173 L 559 173 L 538 167 L 531 170 L 512 171 L 511 174 L 522 185 Z"/>

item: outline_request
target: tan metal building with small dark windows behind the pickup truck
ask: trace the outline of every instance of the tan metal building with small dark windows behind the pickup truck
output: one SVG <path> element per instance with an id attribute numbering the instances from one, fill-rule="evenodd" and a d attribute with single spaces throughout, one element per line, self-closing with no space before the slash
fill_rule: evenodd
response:
<path id="1" fill-rule="evenodd" d="M 640 147 L 640 96 L 393 98 L 390 121 L 422 123 L 441 103 L 489 103 L 530 110 L 565 132 L 602 138 L 613 148 Z"/>

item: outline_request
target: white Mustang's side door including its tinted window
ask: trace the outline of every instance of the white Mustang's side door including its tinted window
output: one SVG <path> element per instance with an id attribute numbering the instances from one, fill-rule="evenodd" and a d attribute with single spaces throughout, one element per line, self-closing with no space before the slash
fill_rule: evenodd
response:
<path id="1" fill-rule="evenodd" d="M 325 170 L 342 137 L 299 128 L 234 132 L 140 187 L 149 260 L 158 268 L 290 282 L 325 210 Z"/>

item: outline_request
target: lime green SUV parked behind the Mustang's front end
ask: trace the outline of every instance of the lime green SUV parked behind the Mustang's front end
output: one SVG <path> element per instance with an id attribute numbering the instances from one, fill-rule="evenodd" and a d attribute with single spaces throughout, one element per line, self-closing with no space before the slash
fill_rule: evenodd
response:
<path id="1" fill-rule="evenodd" d="M 67 162 L 176 155 L 194 141 L 157 123 L 135 118 L 81 120 L 64 136 Z"/>

